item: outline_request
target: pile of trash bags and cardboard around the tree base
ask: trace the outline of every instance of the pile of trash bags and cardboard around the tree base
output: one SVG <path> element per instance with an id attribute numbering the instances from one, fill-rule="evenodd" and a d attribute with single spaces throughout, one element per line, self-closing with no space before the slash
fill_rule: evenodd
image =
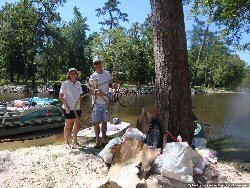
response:
<path id="1" fill-rule="evenodd" d="M 122 138 L 112 139 L 98 154 L 110 165 L 108 176 L 93 187 L 161 187 L 194 183 L 193 175 L 216 163 L 216 152 L 206 148 L 204 138 L 195 138 L 193 148 L 187 142 L 167 143 L 157 119 L 145 110 L 137 128 L 129 128 Z"/>

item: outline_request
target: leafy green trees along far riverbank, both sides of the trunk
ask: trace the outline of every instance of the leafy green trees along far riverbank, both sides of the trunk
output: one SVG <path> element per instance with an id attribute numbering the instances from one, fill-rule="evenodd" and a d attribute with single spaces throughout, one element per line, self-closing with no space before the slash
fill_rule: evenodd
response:
<path id="1" fill-rule="evenodd" d="M 6 3 L 2 7 L 0 83 L 27 83 L 32 80 L 34 84 L 36 80 L 65 80 L 70 67 L 79 69 L 82 78 L 85 78 L 94 71 L 92 59 L 98 55 L 111 73 L 124 73 L 122 79 L 126 84 L 154 84 L 151 15 L 148 15 L 144 23 L 133 23 L 129 29 L 125 29 L 119 26 L 119 21 L 128 21 L 127 14 L 118 8 L 120 2 L 108 0 L 103 8 L 97 9 L 97 15 L 108 16 L 101 24 L 110 29 L 87 36 L 87 18 L 82 16 L 78 8 L 74 7 L 74 18 L 70 22 L 60 22 L 56 8 L 64 2 L 65 0 L 20 0 L 14 4 Z M 214 21 L 214 10 L 217 10 L 212 9 L 211 2 L 194 4 L 202 6 L 193 9 L 197 11 L 196 15 L 213 13 L 213 17 L 207 19 L 209 22 Z M 229 3 L 228 0 L 226 2 Z M 197 61 L 205 38 L 206 24 L 197 17 L 196 23 L 189 36 L 189 65 L 191 74 L 197 74 L 197 85 L 233 88 L 240 84 L 244 75 L 243 86 L 249 85 L 250 73 L 244 68 L 245 62 L 228 48 L 230 43 L 214 32 L 208 31 L 205 47 Z"/>

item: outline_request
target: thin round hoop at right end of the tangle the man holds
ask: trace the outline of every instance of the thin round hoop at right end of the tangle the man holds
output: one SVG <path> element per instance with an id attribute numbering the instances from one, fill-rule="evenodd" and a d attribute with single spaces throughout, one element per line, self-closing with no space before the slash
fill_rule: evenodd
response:
<path id="1" fill-rule="evenodd" d="M 136 96 L 137 93 L 135 91 L 122 88 L 118 102 L 122 107 L 128 107 L 136 100 Z"/>

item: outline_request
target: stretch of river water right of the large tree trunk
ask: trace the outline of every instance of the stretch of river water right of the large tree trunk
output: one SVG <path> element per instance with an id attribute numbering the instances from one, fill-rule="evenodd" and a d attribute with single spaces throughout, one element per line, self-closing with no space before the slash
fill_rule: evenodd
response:
<path id="1" fill-rule="evenodd" d="M 198 94 L 192 96 L 194 112 L 210 124 L 209 137 L 242 136 L 250 133 L 250 94 Z"/>

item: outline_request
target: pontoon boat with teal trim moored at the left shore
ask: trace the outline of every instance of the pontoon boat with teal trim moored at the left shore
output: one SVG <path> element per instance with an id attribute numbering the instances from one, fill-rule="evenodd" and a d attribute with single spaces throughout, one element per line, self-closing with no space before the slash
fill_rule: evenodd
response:
<path id="1" fill-rule="evenodd" d="M 0 138 L 64 126 L 57 99 L 30 98 L 0 105 Z"/>

